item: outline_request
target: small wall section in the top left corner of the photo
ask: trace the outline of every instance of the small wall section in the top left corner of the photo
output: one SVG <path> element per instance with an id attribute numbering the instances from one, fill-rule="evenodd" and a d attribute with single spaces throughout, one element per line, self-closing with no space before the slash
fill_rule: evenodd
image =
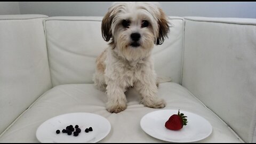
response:
<path id="1" fill-rule="evenodd" d="M 0 15 L 20 14 L 19 2 L 0 2 Z"/>

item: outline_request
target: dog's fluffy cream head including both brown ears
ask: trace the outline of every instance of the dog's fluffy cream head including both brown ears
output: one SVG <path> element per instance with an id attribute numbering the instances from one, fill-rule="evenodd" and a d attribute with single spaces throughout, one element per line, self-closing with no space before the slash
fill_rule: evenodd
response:
<path id="1" fill-rule="evenodd" d="M 151 3 L 115 3 L 102 20 L 102 37 L 127 60 L 147 57 L 169 32 L 163 11 Z"/>

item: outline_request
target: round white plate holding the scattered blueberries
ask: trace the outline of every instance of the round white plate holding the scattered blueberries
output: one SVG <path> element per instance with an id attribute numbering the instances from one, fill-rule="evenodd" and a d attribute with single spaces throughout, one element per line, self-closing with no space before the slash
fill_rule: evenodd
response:
<path id="1" fill-rule="evenodd" d="M 62 133 L 68 125 L 78 125 L 81 133 L 74 137 Z M 93 131 L 86 133 L 86 128 L 92 127 Z M 91 113 L 70 113 L 48 119 L 41 124 L 36 131 L 36 138 L 40 142 L 98 142 L 110 132 L 109 121 L 100 115 Z M 57 134 L 56 130 L 60 130 Z"/>

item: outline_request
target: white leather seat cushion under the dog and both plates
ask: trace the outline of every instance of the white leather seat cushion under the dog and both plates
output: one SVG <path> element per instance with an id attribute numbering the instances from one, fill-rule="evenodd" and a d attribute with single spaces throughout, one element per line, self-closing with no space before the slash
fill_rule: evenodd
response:
<path id="1" fill-rule="evenodd" d="M 211 135 L 199 142 L 243 142 L 185 87 L 177 83 L 162 83 L 159 85 L 158 95 L 166 100 L 167 105 L 163 109 L 191 111 L 211 123 Z M 106 94 L 95 89 L 93 84 L 55 86 L 38 98 L 2 134 L 0 142 L 38 142 L 36 130 L 39 125 L 54 116 L 75 112 L 94 113 L 108 119 L 111 131 L 100 142 L 164 142 L 151 137 L 140 127 L 140 119 L 144 115 L 160 109 L 144 107 L 134 90 L 127 91 L 126 97 L 127 109 L 118 114 L 110 114 L 105 108 Z"/>

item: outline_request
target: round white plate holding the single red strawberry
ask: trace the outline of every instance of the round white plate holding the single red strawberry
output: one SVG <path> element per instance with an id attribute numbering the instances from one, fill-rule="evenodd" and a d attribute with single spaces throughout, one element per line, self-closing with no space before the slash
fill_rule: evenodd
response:
<path id="1" fill-rule="evenodd" d="M 178 109 L 157 110 L 141 118 L 140 126 L 151 137 L 169 142 L 193 142 L 205 139 L 212 133 L 212 125 L 203 117 L 180 110 L 187 116 L 188 123 L 181 130 L 172 131 L 165 127 L 165 122 Z"/>

